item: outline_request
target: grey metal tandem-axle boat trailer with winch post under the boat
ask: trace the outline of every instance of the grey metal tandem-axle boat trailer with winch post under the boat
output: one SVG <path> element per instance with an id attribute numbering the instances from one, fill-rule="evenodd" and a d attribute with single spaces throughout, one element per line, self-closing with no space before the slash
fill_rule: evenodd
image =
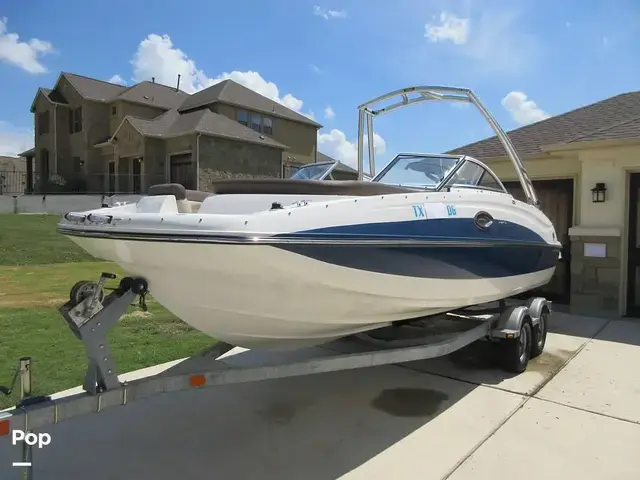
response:
<path id="1" fill-rule="evenodd" d="M 56 399 L 32 396 L 30 358 L 21 358 L 12 385 L 0 387 L 0 393 L 8 395 L 20 378 L 22 394 L 22 400 L 13 409 L 0 412 L 0 437 L 12 435 L 14 430 L 26 434 L 34 429 L 124 406 L 160 393 L 426 360 L 449 355 L 481 339 L 488 340 L 499 349 L 499 359 L 506 371 L 522 373 L 529 360 L 540 355 L 544 349 L 551 314 L 551 303 L 541 297 L 515 304 L 501 300 L 496 307 L 469 307 L 411 322 L 396 322 L 380 330 L 353 336 L 354 340 L 368 344 L 369 348 L 365 351 L 275 365 L 230 366 L 223 363 L 220 357 L 235 346 L 217 342 L 196 356 L 210 360 L 210 368 L 203 369 L 200 366 L 198 370 L 176 374 L 161 372 L 151 377 L 121 382 L 107 335 L 136 297 L 140 308 L 146 310 L 148 287 L 144 279 L 125 277 L 120 280 L 118 287 L 105 295 L 106 281 L 115 278 L 116 275 L 105 272 L 98 282 L 76 283 L 70 291 L 69 301 L 58 309 L 84 345 L 88 361 L 82 385 L 84 392 Z M 411 336 L 402 339 L 394 335 L 403 327 L 420 328 L 421 322 L 426 326 L 445 316 L 447 323 L 459 322 L 466 328 L 422 338 Z M 376 332 L 386 335 L 377 335 Z M 26 441 L 23 443 L 22 457 L 23 462 L 18 464 L 26 468 L 26 478 L 32 478 L 32 447 Z"/>

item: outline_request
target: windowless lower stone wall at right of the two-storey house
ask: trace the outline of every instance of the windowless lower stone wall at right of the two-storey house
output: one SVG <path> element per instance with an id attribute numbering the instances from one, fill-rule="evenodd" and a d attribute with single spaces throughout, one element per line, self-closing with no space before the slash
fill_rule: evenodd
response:
<path id="1" fill-rule="evenodd" d="M 199 189 L 221 178 L 281 178 L 282 150 L 218 137 L 200 137 Z"/>

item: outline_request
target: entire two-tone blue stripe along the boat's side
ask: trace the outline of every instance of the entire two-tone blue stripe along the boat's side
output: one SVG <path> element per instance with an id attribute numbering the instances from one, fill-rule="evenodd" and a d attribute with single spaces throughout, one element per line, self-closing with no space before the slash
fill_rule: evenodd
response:
<path id="1" fill-rule="evenodd" d="M 472 218 L 367 223 L 277 235 L 321 244 L 274 245 L 318 261 L 370 272 L 417 278 L 501 278 L 554 267 L 558 248 L 533 230 L 495 220 L 480 230 Z M 386 240 L 389 246 L 331 245 L 323 241 Z M 419 240 L 418 245 L 393 240 Z M 425 242 L 431 243 L 425 245 Z M 459 245 L 451 245 L 450 243 Z"/>

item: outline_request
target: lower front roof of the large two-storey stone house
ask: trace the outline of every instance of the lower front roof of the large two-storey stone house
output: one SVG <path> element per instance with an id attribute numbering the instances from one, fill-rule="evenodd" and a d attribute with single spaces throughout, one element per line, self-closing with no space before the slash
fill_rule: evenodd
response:
<path id="1" fill-rule="evenodd" d="M 231 140 L 255 143 L 269 147 L 286 149 L 286 145 L 276 142 L 274 139 L 262 135 L 241 123 L 230 118 L 212 112 L 205 108 L 190 113 L 180 114 L 176 110 L 170 110 L 153 120 L 126 116 L 120 127 L 128 121 L 133 127 L 146 137 L 171 138 L 189 133 L 202 133 L 214 137 L 223 137 Z M 118 130 L 114 133 L 117 135 Z"/>

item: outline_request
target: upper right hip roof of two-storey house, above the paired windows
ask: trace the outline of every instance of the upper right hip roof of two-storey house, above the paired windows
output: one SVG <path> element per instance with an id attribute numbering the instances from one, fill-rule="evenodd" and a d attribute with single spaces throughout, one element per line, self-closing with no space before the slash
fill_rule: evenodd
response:
<path id="1" fill-rule="evenodd" d="M 319 123 L 304 115 L 285 107 L 284 105 L 260 95 L 233 80 L 223 80 L 215 85 L 200 90 L 187 98 L 180 106 L 179 111 L 185 112 L 194 108 L 209 105 L 211 103 L 227 103 L 261 113 L 267 113 L 276 117 L 282 117 L 295 122 L 322 127 Z"/>

